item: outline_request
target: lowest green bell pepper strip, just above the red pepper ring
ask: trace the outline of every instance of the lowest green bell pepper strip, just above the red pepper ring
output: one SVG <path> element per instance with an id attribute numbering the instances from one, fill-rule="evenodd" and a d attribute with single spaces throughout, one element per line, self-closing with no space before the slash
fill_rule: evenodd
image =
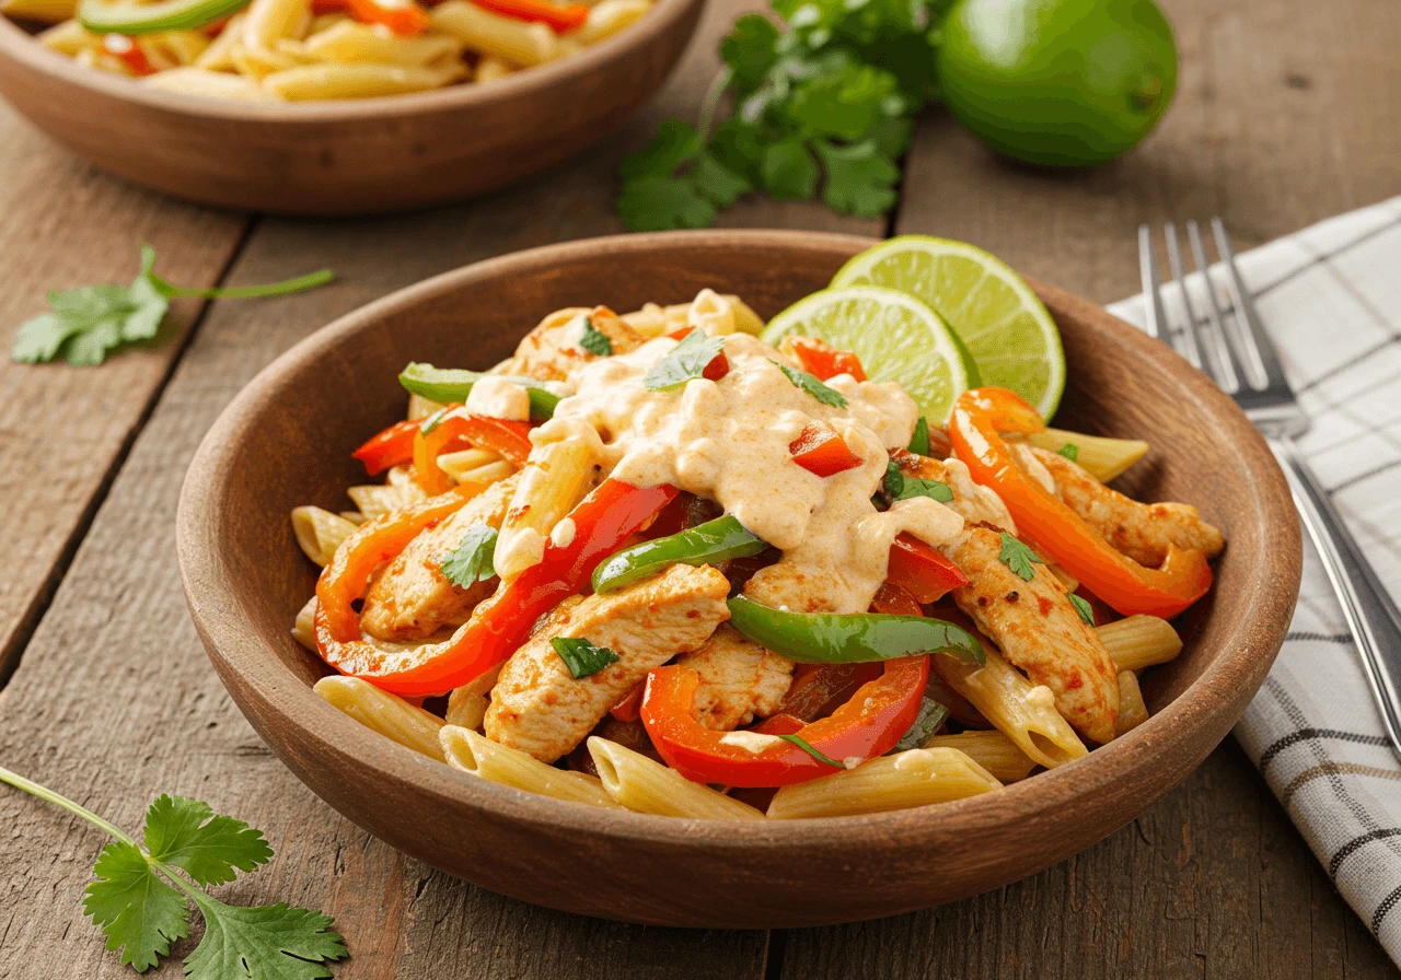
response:
<path id="1" fill-rule="evenodd" d="M 800 664 L 866 664 L 916 654 L 954 654 L 985 662 L 982 644 L 940 619 L 885 613 L 793 613 L 730 599 L 730 626 Z"/>

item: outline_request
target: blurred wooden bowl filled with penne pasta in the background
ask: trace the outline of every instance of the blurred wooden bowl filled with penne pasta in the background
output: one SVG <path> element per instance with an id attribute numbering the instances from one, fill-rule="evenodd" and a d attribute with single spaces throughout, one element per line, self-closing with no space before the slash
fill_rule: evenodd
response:
<path id="1" fill-rule="evenodd" d="M 129 11 L 193 1 L 97 10 L 137 29 Z M 0 94 L 98 167 L 178 197 L 392 211 L 518 182 L 595 143 L 663 83 L 702 4 L 251 0 L 221 24 L 171 15 L 127 35 L 85 29 L 67 0 L 8 0 L 28 25 L 59 22 L 35 38 L 0 17 Z"/>

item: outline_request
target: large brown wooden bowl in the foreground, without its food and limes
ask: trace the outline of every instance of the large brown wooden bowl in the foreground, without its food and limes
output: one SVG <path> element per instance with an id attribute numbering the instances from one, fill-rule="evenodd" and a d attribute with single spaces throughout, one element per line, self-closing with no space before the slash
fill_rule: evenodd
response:
<path id="1" fill-rule="evenodd" d="M 941 806 L 712 823 L 496 785 L 381 738 L 311 690 L 328 671 L 289 629 L 315 570 L 287 512 L 345 505 L 345 487 L 364 480 L 350 451 L 402 417 L 405 363 L 488 367 L 556 308 L 681 302 L 705 286 L 772 316 L 869 245 L 806 231 L 552 245 L 395 293 L 283 354 L 210 430 L 179 503 L 195 624 L 254 728 L 326 802 L 427 864 L 528 902 L 660 925 L 800 927 L 922 909 L 1040 871 L 1142 813 L 1264 680 L 1299 591 L 1299 522 L 1274 456 L 1229 398 L 1167 347 L 1040 283 L 1070 368 L 1056 421 L 1152 440 L 1126 489 L 1199 505 L 1230 542 L 1216 588 L 1181 623 L 1181 657 L 1145 679 L 1156 714 L 1125 738 Z"/>

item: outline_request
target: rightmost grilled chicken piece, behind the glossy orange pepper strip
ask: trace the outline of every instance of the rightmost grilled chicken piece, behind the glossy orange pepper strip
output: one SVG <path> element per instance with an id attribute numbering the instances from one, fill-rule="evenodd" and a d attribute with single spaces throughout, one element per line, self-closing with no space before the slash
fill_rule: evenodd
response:
<path id="1" fill-rule="evenodd" d="M 1222 532 L 1188 504 L 1140 504 L 1111 490 L 1065 456 L 1023 447 L 1055 483 L 1055 494 L 1098 531 L 1119 553 L 1157 568 L 1168 546 L 1203 552 L 1212 559 L 1226 546 Z M 1030 472 L 1030 470 L 1028 470 Z"/>

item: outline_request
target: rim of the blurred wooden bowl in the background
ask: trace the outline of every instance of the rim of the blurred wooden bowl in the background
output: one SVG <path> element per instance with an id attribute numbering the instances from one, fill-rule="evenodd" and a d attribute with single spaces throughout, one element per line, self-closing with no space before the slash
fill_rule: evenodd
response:
<path id="1" fill-rule="evenodd" d="M 602 70 L 604 66 L 629 52 L 653 46 L 688 11 L 703 4 L 705 0 L 653 0 L 653 8 L 647 11 L 646 17 L 567 57 L 514 71 L 489 84 L 454 84 L 425 92 L 378 98 L 238 102 L 150 88 L 134 78 L 108 74 L 49 50 L 36 42 L 35 35 L 4 14 L 0 14 L 0 59 L 18 62 L 35 73 L 56 77 L 88 94 L 182 116 L 268 125 L 363 122 L 380 118 L 433 115 L 455 109 L 471 111 L 486 104 L 528 97 L 558 85 L 570 85 L 574 80 Z"/>

